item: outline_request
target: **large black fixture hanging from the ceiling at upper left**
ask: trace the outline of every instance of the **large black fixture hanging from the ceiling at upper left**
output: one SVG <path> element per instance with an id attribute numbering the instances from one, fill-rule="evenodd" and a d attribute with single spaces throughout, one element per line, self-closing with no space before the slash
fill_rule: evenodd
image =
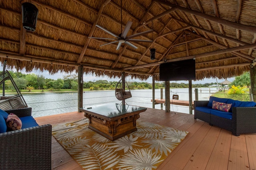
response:
<path id="1" fill-rule="evenodd" d="M 22 4 L 22 25 L 28 31 L 36 31 L 38 9 L 29 2 Z"/>

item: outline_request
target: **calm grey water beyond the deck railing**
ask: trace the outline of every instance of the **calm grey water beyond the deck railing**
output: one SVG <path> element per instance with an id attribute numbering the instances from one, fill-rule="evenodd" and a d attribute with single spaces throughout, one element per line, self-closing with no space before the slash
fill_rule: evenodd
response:
<path id="1" fill-rule="evenodd" d="M 211 91 L 209 93 L 209 88 L 198 88 L 198 99 L 208 100 L 210 95 L 217 91 L 216 88 L 210 89 Z M 202 92 L 200 92 L 200 90 L 202 90 Z M 192 92 L 192 100 L 194 100 L 194 88 Z M 152 108 L 152 90 L 131 90 L 131 93 L 132 98 L 126 100 L 127 104 Z M 173 94 L 178 94 L 179 100 L 188 100 L 188 88 L 171 89 L 171 98 Z M 28 104 L 28 107 L 32 107 L 32 115 L 34 117 L 67 113 L 78 110 L 77 92 L 24 94 L 23 97 Z M 160 89 L 155 90 L 155 98 L 160 98 Z M 120 104 L 121 101 L 116 99 L 114 90 L 86 91 L 83 93 L 84 106 L 92 106 L 103 103 Z M 155 108 L 160 109 L 160 104 L 155 105 Z M 165 109 L 164 106 L 163 109 Z M 171 111 L 189 113 L 189 108 L 186 106 L 171 105 L 170 109 Z"/>

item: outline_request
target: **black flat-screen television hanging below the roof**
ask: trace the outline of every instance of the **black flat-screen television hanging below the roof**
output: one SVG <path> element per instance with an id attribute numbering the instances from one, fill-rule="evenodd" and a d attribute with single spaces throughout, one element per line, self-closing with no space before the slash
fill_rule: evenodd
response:
<path id="1" fill-rule="evenodd" d="M 196 60 L 188 59 L 160 64 L 160 81 L 195 80 Z"/>

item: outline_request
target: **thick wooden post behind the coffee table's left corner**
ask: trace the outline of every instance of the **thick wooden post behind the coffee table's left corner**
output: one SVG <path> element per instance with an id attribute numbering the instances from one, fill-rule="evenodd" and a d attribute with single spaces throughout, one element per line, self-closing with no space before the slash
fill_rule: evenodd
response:
<path id="1" fill-rule="evenodd" d="M 83 66 L 79 66 L 78 67 L 78 108 L 79 107 L 83 107 L 83 84 L 84 84 L 84 78 L 83 78 L 83 75 L 84 75 L 84 69 L 83 69 Z M 79 109 L 78 109 L 79 111 Z"/>

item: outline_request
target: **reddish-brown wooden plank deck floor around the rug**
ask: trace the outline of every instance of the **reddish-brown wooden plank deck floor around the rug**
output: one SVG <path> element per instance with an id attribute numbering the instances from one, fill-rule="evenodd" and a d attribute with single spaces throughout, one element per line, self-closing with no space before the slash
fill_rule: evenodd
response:
<path id="1" fill-rule="evenodd" d="M 82 112 L 37 117 L 43 125 L 74 121 L 84 118 Z M 194 115 L 150 109 L 140 113 L 140 120 L 157 123 L 189 134 L 162 162 L 158 170 L 256 170 L 256 133 L 236 137 L 230 131 L 210 126 Z M 52 169 L 81 170 L 82 168 L 52 137 Z"/>

